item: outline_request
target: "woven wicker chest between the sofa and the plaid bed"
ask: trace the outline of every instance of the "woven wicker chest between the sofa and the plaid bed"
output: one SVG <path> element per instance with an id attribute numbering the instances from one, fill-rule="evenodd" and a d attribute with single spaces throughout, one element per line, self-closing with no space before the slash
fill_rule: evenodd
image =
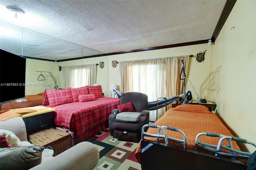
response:
<path id="1" fill-rule="evenodd" d="M 28 134 L 28 141 L 34 145 L 51 146 L 56 156 L 74 146 L 72 132 L 57 128 L 47 128 Z"/>

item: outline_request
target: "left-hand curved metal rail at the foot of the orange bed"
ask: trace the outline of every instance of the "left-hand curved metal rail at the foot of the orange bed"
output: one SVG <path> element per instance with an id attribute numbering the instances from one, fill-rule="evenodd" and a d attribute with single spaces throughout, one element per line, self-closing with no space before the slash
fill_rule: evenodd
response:
<path id="1" fill-rule="evenodd" d="M 157 134 L 150 134 L 150 133 L 144 132 L 144 129 L 146 127 L 158 128 L 158 133 Z M 180 132 L 182 134 L 182 136 L 183 136 L 183 140 L 167 136 L 165 129 L 176 131 L 176 132 Z M 161 131 L 163 132 L 163 134 L 161 134 Z M 167 126 L 162 126 L 161 127 L 159 125 L 146 124 L 146 125 L 144 125 L 142 127 L 142 133 L 141 133 L 141 139 L 142 140 L 144 139 L 144 136 L 155 137 L 157 143 L 159 143 L 159 138 L 164 138 L 165 146 L 168 146 L 168 140 L 170 140 L 172 142 L 176 142 L 176 143 L 182 144 L 184 149 L 187 149 L 187 138 L 186 138 L 186 135 L 184 134 L 184 132 L 182 132 L 182 130 L 174 128 L 174 127 L 167 127 Z"/>

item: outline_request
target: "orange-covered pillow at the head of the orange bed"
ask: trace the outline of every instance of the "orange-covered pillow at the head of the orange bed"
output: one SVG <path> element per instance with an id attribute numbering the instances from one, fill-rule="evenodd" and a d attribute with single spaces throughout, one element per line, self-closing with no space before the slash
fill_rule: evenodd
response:
<path id="1" fill-rule="evenodd" d="M 208 110 L 208 107 L 203 105 L 178 105 L 173 110 L 185 112 L 212 113 Z"/>

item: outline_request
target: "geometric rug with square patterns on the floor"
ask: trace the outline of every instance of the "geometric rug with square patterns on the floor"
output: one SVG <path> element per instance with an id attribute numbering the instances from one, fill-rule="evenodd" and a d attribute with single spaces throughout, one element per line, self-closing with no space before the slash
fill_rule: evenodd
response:
<path id="1" fill-rule="evenodd" d="M 92 142 L 100 152 L 100 160 L 94 170 L 141 170 L 135 158 L 138 142 L 113 138 L 108 128 L 86 140 Z"/>

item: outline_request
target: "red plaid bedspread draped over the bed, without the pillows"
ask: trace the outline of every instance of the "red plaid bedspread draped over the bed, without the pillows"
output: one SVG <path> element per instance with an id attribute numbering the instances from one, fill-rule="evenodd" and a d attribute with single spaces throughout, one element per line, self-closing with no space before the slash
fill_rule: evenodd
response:
<path id="1" fill-rule="evenodd" d="M 107 122 L 111 111 L 116 109 L 119 103 L 120 99 L 118 98 L 100 97 L 94 101 L 54 106 L 52 108 L 55 109 L 56 113 L 55 124 L 74 132 L 74 141 L 82 141 L 99 133 L 97 128 L 88 134 L 86 131 Z"/>

